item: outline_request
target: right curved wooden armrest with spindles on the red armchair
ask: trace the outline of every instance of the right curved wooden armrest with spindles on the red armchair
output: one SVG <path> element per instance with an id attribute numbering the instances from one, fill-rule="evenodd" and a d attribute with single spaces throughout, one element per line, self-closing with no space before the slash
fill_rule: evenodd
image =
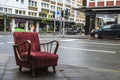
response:
<path id="1" fill-rule="evenodd" d="M 53 40 L 47 43 L 42 43 L 40 45 L 41 45 L 41 51 L 51 52 L 56 54 L 59 47 L 59 42 L 56 40 Z"/>

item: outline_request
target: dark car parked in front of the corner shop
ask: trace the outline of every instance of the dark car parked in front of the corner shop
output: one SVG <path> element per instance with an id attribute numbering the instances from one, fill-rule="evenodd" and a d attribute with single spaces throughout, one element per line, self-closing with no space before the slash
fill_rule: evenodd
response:
<path id="1" fill-rule="evenodd" d="M 120 38 L 120 24 L 105 25 L 98 30 L 92 30 L 90 33 L 94 38 L 103 37 L 119 37 Z"/>

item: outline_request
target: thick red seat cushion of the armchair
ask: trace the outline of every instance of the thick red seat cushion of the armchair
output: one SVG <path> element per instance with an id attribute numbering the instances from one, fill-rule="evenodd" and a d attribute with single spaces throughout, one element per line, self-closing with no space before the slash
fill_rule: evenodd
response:
<path id="1" fill-rule="evenodd" d="M 26 52 L 23 53 L 24 58 L 27 57 Z M 22 56 L 23 56 L 22 55 Z M 30 53 L 30 64 L 32 63 L 34 68 L 47 67 L 57 65 L 58 55 L 51 54 L 49 52 L 31 52 Z"/>

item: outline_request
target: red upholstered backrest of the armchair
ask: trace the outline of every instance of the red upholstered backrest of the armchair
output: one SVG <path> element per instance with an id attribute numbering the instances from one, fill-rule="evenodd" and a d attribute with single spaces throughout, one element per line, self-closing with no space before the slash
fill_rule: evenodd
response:
<path id="1" fill-rule="evenodd" d="M 13 37 L 14 37 L 15 44 L 20 44 L 26 40 L 30 40 L 31 45 L 32 45 L 31 51 L 32 52 L 40 51 L 40 42 L 39 42 L 38 33 L 36 32 L 14 32 Z"/>

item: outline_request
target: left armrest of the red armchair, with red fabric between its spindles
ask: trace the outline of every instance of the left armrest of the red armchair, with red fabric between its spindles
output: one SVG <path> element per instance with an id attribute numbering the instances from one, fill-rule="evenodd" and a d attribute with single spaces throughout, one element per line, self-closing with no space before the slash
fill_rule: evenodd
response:
<path id="1" fill-rule="evenodd" d="M 13 45 L 15 56 L 20 60 L 20 61 L 29 61 L 30 59 L 30 51 L 31 51 L 31 41 L 26 40 L 20 44 L 14 44 Z M 27 51 L 25 51 L 27 49 Z M 22 57 L 22 53 L 26 53 L 27 56 L 26 58 Z"/>

